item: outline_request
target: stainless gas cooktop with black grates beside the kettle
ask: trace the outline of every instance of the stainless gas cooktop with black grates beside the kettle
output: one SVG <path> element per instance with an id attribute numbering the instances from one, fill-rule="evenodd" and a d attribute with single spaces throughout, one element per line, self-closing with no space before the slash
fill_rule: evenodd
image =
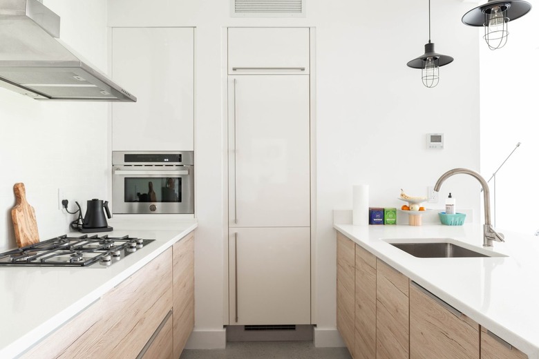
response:
<path id="1" fill-rule="evenodd" d="M 106 268 L 154 240 L 108 235 L 51 238 L 0 253 L 0 266 L 84 266 Z"/>

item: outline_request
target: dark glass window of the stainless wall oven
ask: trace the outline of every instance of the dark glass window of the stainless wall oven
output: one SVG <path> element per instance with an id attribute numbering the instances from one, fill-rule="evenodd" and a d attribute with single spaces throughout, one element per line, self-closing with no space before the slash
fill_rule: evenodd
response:
<path id="1" fill-rule="evenodd" d="M 126 177 L 125 202 L 182 202 L 181 177 Z"/>

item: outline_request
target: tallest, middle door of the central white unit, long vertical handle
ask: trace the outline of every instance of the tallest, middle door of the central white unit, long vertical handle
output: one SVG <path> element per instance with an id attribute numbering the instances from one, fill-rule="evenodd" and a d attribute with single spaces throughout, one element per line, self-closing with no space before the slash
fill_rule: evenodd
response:
<path id="1" fill-rule="evenodd" d="M 309 77 L 229 76 L 229 226 L 310 226 Z"/>

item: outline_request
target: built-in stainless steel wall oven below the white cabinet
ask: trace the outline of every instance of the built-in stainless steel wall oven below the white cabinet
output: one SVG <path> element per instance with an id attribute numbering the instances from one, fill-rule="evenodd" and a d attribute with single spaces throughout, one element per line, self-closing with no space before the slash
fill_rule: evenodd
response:
<path id="1" fill-rule="evenodd" d="M 195 213 L 193 151 L 113 151 L 112 161 L 113 213 Z"/>

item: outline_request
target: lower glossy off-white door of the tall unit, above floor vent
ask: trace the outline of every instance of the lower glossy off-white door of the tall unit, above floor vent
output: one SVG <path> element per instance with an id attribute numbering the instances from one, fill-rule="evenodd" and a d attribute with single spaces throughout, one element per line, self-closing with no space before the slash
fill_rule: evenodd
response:
<path id="1" fill-rule="evenodd" d="M 310 324 L 310 229 L 229 232 L 230 324 Z"/>

